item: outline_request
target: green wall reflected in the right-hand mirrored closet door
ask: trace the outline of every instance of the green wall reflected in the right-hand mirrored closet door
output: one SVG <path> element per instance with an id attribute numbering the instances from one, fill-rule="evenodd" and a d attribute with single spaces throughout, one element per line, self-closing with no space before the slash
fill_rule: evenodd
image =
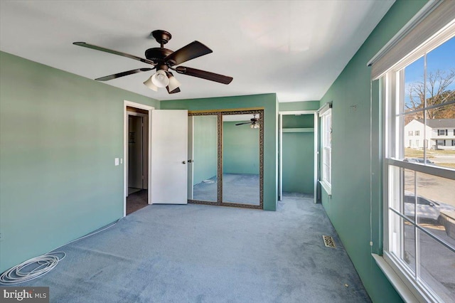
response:
<path id="1" fill-rule="evenodd" d="M 259 174 L 259 129 L 223 122 L 223 174 Z"/>

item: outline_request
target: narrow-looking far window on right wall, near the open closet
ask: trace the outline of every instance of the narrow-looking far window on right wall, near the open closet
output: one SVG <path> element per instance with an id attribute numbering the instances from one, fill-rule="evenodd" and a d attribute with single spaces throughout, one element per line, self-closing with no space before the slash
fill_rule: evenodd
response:
<path id="1" fill-rule="evenodd" d="M 321 117 L 321 184 L 330 193 L 332 167 L 332 110 L 329 108 Z"/>

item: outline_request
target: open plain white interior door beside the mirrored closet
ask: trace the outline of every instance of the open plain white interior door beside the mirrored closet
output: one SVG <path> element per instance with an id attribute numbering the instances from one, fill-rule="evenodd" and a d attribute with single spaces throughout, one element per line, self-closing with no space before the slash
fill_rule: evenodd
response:
<path id="1" fill-rule="evenodd" d="M 151 111 L 150 203 L 188 203 L 188 111 Z"/>

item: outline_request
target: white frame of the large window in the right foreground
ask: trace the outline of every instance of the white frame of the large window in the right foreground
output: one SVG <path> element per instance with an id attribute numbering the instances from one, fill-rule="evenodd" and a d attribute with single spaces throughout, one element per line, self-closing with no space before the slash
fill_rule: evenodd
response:
<path id="1" fill-rule="evenodd" d="M 432 39 L 429 43 L 424 43 L 419 50 L 411 53 L 410 56 L 402 60 L 402 62 L 397 63 L 394 67 L 392 67 L 387 73 L 382 75 L 380 78 L 380 96 L 382 102 L 382 109 L 384 115 L 382 115 L 382 133 L 384 134 L 382 137 L 382 210 L 383 210 L 383 239 L 382 239 L 382 256 L 387 262 L 395 275 L 400 277 L 400 280 L 406 285 L 408 289 L 412 292 L 414 297 L 419 299 L 422 302 L 437 302 L 439 301 L 439 296 L 427 285 L 422 282 L 419 282 L 414 278 L 417 275 L 415 272 L 412 272 L 409 267 L 405 266 L 404 261 L 400 259 L 400 257 L 396 257 L 395 253 L 392 252 L 397 248 L 392 247 L 396 245 L 393 243 L 393 235 L 392 235 L 392 228 L 393 227 L 393 220 L 392 218 L 392 210 L 390 206 L 392 205 L 389 203 L 389 197 L 395 195 L 401 195 L 402 191 L 402 184 L 398 184 L 400 179 L 397 179 L 397 174 L 395 175 L 391 172 L 392 169 L 395 167 L 402 169 L 410 169 L 412 171 L 420 172 L 423 174 L 431 174 L 433 176 L 441 176 L 446 179 L 455 180 L 455 170 L 449 169 L 446 167 L 437 167 L 437 166 L 429 166 L 426 164 L 416 164 L 403 161 L 404 159 L 404 129 L 405 125 L 402 122 L 402 119 L 397 119 L 397 112 L 400 112 L 400 98 L 404 95 L 404 87 L 399 85 L 399 83 L 403 83 L 404 80 L 404 71 L 405 68 L 410 63 L 420 58 L 424 53 L 429 53 L 434 48 L 437 48 L 444 42 L 448 41 L 449 38 L 455 36 L 455 24 L 449 26 L 448 29 L 444 31 L 444 33 L 440 33 L 437 38 Z M 426 120 L 426 119 L 425 119 Z M 445 133 L 446 131 L 444 131 Z M 439 131 L 438 131 L 439 134 Z M 427 146 L 427 140 L 431 139 L 430 134 L 426 134 L 425 127 L 424 127 L 424 149 L 429 149 Z M 439 140 L 437 139 L 436 144 L 438 144 Z M 400 144 L 402 144 L 402 148 L 400 148 Z M 395 169 L 397 170 L 397 169 Z M 402 174 L 402 173 L 400 173 Z M 399 177 L 401 178 L 401 176 Z M 404 201 L 400 202 L 400 207 L 403 206 Z M 396 213 L 396 212 L 395 212 Z M 404 211 L 400 209 L 400 213 L 404 214 Z M 398 216 L 400 214 L 396 213 Z M 399 220 L 408 220 L 409 218 L 402 217 Z M 416 224 L 417 225 L 417 224 Z M 396 228 L 396 226 L 395 226 Z M 417 228 L 415 226 L 414 228 Z M 400 237 L 403 237 L 402 228 L 399 228 L 398 233 L 400 233 Z M 416 243 L 418 239 L 416 238 Z M 438 241 L 439 242 L 439 241 Z M 440 242 L 439 242 L 440 243 Z M 403 252 L 404 248 L 400 247 L 400 251 Z M 452 250 L 453 251 L 453 250 Z M 416 262 L 419 262 L 417 260 Z"/>

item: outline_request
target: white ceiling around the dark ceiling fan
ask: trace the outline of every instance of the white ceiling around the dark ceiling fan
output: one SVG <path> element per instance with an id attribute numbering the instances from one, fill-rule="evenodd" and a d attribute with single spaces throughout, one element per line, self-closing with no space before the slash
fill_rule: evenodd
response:
<path id="1" fill-rule="evenodd" d="M 320 100 L 393 2 L 1 0 L 0 50 L 95 79 L 151 65 L 73 42 L 145 58 L 159 47 L 149 33 L 163 29 L 172 34 L 166 48 L 197 40 L 213 50 L 183 65 L 232 83 L 177 74 L 176 95 L 143 85 L 152 72 L 105 83 L 157 100 L 268 92 L 280 102 Z"/>

